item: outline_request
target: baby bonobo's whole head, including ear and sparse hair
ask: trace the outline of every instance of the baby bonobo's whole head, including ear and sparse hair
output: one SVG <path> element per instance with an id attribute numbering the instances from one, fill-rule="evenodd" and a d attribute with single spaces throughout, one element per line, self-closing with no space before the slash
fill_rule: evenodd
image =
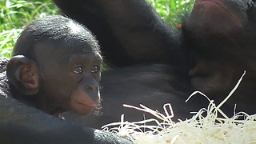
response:
<path id="1" fill-rule="evenodd" d="M 14 98 L 49 114 L 90 114 L 99 102 L 102 57 L 97 40 L 70 18 L 46 17 L 26 26 L 7 65 Z"/>

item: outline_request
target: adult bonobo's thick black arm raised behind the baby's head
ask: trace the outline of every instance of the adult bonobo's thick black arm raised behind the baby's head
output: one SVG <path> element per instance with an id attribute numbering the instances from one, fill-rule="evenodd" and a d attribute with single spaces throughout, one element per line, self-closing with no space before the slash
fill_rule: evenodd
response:
<path id="1" fill-rule="evenodd" d="M 174 34 L 145 0 L 54 2 L 96 34 L 106 59 L 116 66 L 170 62 L 170 54 L 176 53 L 179 34 Z"/>

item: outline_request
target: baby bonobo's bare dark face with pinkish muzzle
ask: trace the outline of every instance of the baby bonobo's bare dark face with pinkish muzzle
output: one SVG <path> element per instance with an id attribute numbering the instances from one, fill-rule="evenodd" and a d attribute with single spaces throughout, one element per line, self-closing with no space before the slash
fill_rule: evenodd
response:
<path id="1" fill-rule="evenodd" d="M 55 45 L 51 42 L 36 44 L 34 52 L 37 54 L 41 81 L 36 95 L 46 99 L 42 101 L 46 103 L 41 103 L 42 109 L 45 107 L 51 110 L 48 111 L 50 114 L 63 109 L 86 115 L 98 105 L 102 57 L 90 46 L 87 43 L 76 46 Z"/>

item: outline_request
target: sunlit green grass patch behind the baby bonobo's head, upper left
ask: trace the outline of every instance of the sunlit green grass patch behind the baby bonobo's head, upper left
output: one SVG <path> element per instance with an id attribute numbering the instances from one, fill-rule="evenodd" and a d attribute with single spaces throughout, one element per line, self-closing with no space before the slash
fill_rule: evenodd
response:
<path id="1" fill-rule="evenodd" d="M 0 56 L 10 58 L 18 34 L 29 22 L 57 14 L 57 7 L 50 0 L 38 1 L 0 0 Z"/>

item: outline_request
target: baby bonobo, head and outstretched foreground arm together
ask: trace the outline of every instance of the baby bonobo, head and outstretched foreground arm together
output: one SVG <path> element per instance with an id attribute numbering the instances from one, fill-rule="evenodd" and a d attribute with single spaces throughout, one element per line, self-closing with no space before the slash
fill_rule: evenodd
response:
<path id="1" fill-rule="evenodd" d="M 0 143 L 132 143 L 50 115 L 90 114 L 98 104 L 98 42 L 77 22 L 54 16 L 30 23 L 7 62 L 0 59 Z"/>

